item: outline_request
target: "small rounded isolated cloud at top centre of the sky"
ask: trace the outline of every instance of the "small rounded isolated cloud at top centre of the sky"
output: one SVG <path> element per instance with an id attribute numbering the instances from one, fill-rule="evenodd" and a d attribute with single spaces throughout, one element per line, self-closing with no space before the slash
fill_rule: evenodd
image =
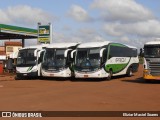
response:
<path id="1" fill-rule="evenodd" d="M 87 11 L 78 5 L 72 5 L 68 11 L 68 15 L 79 22 L 88 22 L 92 20 Z"/>

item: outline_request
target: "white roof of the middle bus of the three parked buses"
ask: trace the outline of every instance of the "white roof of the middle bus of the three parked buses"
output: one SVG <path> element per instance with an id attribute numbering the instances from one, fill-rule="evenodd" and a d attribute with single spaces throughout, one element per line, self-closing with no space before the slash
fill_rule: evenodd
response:
<path id="1" fill-rule="evenodd" d="M 47 46 L 47 48 L 69 48 L 77 46 L 79 43 L 53 43 Z"/>

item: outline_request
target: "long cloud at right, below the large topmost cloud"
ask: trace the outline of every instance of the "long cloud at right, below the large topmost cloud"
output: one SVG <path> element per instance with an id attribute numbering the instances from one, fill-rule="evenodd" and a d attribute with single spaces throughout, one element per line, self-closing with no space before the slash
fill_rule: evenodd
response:
<path id="1" fill-rule="evenodd" d="M 136 23 L 107 23 L 104 30 L 108 35 L 135 35 L 141 37 L 160 37 L 160 21 L 148 20 Z"/>

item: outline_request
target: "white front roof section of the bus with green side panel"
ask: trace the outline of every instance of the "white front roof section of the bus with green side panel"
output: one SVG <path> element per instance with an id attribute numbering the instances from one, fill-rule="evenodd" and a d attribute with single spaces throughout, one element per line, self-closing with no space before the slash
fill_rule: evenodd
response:
<path id="1" fill-rule="evenodd" d="M 92 47 L 102 47 L 104 45 L 108 45 L 110 41 L 104 41 L 104 42 L 88 42 L 88 43 L 82 43 L 78 46 L 78 48 L 92 48 Z"/>

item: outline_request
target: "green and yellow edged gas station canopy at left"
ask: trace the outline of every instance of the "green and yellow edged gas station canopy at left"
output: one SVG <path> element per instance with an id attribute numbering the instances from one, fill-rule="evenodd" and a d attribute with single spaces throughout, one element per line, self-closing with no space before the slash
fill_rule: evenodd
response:
<path id="1" fill-rule="evenodd" d="M 0 24 L 0 40 L 22 39 L 22 46 L 24 47 L 24 39 L 37 37 L 38 31 L 36 29 Z"/>

